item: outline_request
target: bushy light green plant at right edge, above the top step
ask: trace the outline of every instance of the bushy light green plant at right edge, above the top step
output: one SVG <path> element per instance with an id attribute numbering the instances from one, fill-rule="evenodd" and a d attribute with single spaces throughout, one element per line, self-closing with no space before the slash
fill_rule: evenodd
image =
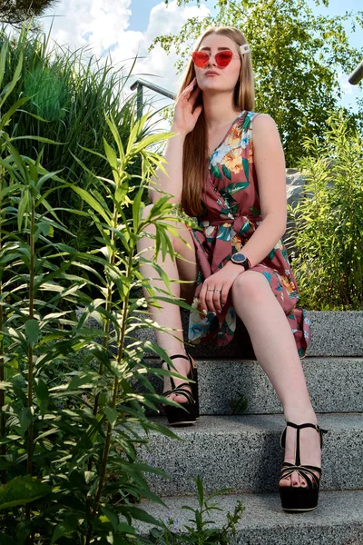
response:
<path id="1" fill-rule="evenodd" d="M 363 139 L 343 112 L 331 114 L 328 124 L 322 144 L 316 138 L 303 144 L 306 183 L 298 206 L 289 206 L 297 249 L 291 267 L 304 307 L 357 311 L 363 308 Z"/>

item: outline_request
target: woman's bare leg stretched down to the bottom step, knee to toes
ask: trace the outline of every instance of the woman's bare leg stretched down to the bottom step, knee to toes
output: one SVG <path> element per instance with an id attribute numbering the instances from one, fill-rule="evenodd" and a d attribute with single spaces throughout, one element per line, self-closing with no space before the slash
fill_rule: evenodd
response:
<path id="1" fill-rule="evenodd" d="M 317 424 L 305 376 L 289 322 L 267 279 L 257 271 L 242 272 L 231 288 L 232 306 L 244 322 L 256 358 L 275 388 L 286 421 Z M 300 431 L 301 463 L 320 467 L 319 434 Z M 296 431 L 288 427 L 285 461 L 295 462 Z M 298 472 L 280 481 L 282 486 L 307 486 Z"/>

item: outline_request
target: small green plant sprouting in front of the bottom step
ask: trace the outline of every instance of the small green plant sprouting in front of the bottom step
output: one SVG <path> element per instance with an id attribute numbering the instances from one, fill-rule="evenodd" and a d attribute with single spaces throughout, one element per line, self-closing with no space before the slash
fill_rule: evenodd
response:
<path id="1" fill-rule="evenodd" d="M 186 543 L 197 543 L 198 545 L 227 545 L 231 537 L 236 534 L 236 524 L 240 520 L 245 508 L 240 500 L 236 502 L 233 513 L 226 513 L 227 522 L 221 528 L 213 528 L 213 520 L 205 520 L 205 516 L 211 517 L 211 512 L 221 510 L 218 503 L 211 503 L 211 500 L 228 492 L 228 489 L 218 490 L 209 496 L 204 496 L 203 483 L 198 475 L 195 479 L 197 485 L 197 500 L 199 507 L 193 509 L 188 505 L 182 506 L 184 510 L 190 510 L 194 519 L 189 519 L 191 524 L 184 525 L 183 529 L 177 519 L 169 516 L 167 524 L 162 529 L 153 528 L 149 537 L 157 545 L 185 545 Z"/>

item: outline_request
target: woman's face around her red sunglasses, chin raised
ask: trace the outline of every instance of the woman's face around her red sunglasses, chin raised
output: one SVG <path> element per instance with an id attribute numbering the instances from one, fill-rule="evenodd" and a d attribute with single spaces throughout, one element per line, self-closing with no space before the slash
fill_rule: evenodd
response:
<path id="1" fill-rule="evenodd" d="M 229 49 L 233 53 L 231 63 L 221 67 L 216 63 L 214 55 Z M 223 35 L 206 36 L 198 51 L 211 54 L 208 63 L 199 68 L 194 64 L 197 84 L 204 93 L 232 92 L 240 76 L 240 52 L 238 45 L 231 38 Z"/>

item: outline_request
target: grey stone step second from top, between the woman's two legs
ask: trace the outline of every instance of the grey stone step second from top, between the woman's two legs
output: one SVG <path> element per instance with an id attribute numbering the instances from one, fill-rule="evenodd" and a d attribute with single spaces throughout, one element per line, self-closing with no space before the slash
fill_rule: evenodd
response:
<path id="1" fill-rule="evenodd" d="M 363 411 L 363 358 L 305 358 L 301 363 L 315 411 Z M 199 360 L 196 367 L 201 414 L 282 412 L 280 400 L 259 362 Z M 149 380 L 162 393 L 162 381 L 152 374 Z M 246 410 L 236 404 L 240 396 L 246 400 Z"/>

